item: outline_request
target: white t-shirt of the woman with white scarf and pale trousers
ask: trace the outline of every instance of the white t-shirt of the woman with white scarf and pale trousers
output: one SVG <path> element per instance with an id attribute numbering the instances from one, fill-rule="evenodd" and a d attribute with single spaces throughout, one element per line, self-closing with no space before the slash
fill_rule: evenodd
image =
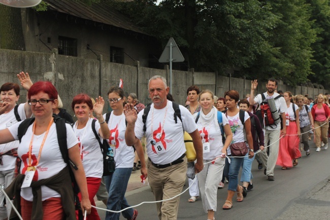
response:
<path id="1" fill-rule="evenodd" d="M 228 119 L 223 113 L 221 114 L 222 114 L 222 123 L 224 126 L 228 123 Z M 210 142 L 210 152 L 204 152 L 203 159 L 212 160 L 216 156 L 221 155 L 221 150 L 223 148 L 222 135 L 221 135 L 219 123 L 215 123 L 215 121 L 212 119 L 210 125 L 203 127 L 200 121 L 201 121 L 200 119 L 197 121 L 196 124 L 197 129 L 199 130 L 200 134 L 204 133 L 205 142 Z"/>

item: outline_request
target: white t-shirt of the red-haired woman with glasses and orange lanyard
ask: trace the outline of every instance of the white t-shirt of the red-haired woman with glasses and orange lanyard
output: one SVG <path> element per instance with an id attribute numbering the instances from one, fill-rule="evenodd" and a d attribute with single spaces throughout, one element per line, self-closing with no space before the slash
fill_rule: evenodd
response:
<path id="1" fill-rule="evenodd" d="M 18 126 L 20 123 L 21 122 L 15 123 L 9 128 L 9 132 L 12 134 L 15 140 L 18 140 L 17 137 Z M 25 174 L 26 168 L 28 166 L 28 148 L 33 134 L 32 132 L 33 124 L 34 123 L 32 123 L 28 127 L 26 134 L 22 137 L 21 143 L 19 144 L 18 147 L 18 156 L 22 160 L 21 169 L 20 169 L 20 172 L 22 174 Z M 67 127 L 67 145 L 68 145 L 68 149 L 70 149 L 71 147 L 78 144 L 78 140 L 76 138 L 74 131 L 72 130 L 71 125 L 66 123 L 65 126 Z M 32 142 L 32 151 L 31 151 L 32 166 L 35 166 L 37 164 L 40 145 L 45 137 L 45 134 L 46 132 L 42 135 L 34 135 L 34 139 Z M 40 179 L 46 179 L 51 176 L 54 176 L 58 174 L 66 166 L 67 164 L 64 163 L 62 158 L 62 153 L 58 146 L 56 125 L 55 123 L 53 123 L 50 127 L 44 147 L 42 148 L 40 161 L 38 163 L 37 170 L 33 180 L 37 181 Z M 61 197 L 56 191 L 51 190 L 47 186 L 42 185 L 41 190 L 42 190 L 42 201 L 52 197 Z M 31 187 L 22 188 L 21 196 L 27 201 L 32 201 L 33 195 L 32 195 Z"/>

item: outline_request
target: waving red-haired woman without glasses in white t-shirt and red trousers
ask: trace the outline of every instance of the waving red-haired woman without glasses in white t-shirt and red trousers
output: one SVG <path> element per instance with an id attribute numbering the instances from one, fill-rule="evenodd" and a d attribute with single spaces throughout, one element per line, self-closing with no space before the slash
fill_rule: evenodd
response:
<path id="1" fill-rule="evenodd" d="M 101 138 L 107 139 L 110 137 L 108 125 L 102 115 L 104 100 L 102 97 L 96 98 L 93 106 L 89 96 L 82 93 L 73 98 L 71 107 L 77 117 L 73 130 L 79 141 L 80 158 L 86 173 L 89 201 L 95 206 L 94 196 L 98 187 L 100 187 L 103 174 L 103 154 L 92 126 L 95 127 Z M 94 119 L 89 117 L 92 112 L 95 113 L 98 119 L 94 123 Z M 81 195 L 78 194 L 78 196 L 81 199 Z M 78 219 L 78 212 L 76 214 Z M 95 208 L 91 209 L 87 219 L 100 219 Z"/>

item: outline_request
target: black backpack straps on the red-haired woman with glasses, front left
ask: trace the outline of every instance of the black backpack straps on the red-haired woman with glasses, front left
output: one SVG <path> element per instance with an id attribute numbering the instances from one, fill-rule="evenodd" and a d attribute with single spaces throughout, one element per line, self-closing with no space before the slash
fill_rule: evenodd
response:
<path id="1" fill-rule="evenodd" d="M 75 176 L 73 174 L 73 171 L 70 168 L 70 165 L 75 169 L 78 170 L 77 166 L 69 159 L 69 151 L 68 151 L 68 145 L 67 145 L 67 127 L 65 127 L 65 119 L 58 117 L 56 114 L 53 114 L 54 117 L 54 123 L 56 125 L 56 132 L 57 132 L 57 141 L 59 145 L 59 149 L 62 154 L 62 158 L 64 163 L 66 163 L 69 169 L 71 181 L 72 181 L 72 187 L 74 192 L 74 201 L 75 201 L 75 208 L 78 210 L 79 220 L 83 219 L 82 210 L 80 207 L 80 201 L 78 197 L 78 193 L 80 192 L 77 181 L 75 179 Z M 22 121 L 22 123 L 18 126 L 18 139 L 19 142 L 21 142 L 22 137 L 25 135 L 28 127 L 35 121 L 35 118 L 27 118 Z"/>

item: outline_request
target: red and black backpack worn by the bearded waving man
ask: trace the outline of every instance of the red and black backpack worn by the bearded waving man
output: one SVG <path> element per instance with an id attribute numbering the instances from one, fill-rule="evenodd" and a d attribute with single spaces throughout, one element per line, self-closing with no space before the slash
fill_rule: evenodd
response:
<path id="1" fill-rule="evenodd" d="M 279 95 L 279 96 L 275 97 L 274 100 L 276 100 L 280 97 L 283 97 L 283 96 Z M 271 111 L 271 109 L 268 105 L 268 101 L 267 101 L 265 95 L 263 95 L 263 93 L 261 93 L 261 98 L 262 98 L 262 102 L 260 103 L 260 110 L 257 110 L 255 114 L 258 117 L 262 128 L 264 128 L 268 125 L 271 128 L 275 129 L 277 127 L 278 120 L 280 120 L 281 117 L 278 115 L 277 118 L 274 118 L 272 113 L 277 112 L 277 110 L 274 112 Z"/>

